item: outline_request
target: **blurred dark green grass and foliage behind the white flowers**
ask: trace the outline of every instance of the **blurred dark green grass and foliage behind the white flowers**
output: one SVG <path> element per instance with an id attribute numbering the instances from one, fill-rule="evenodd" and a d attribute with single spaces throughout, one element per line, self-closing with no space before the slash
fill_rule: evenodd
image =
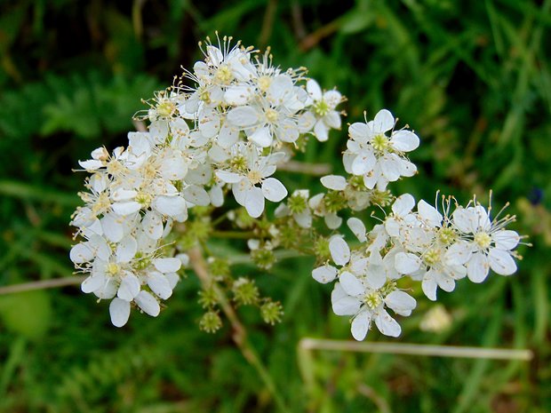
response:
<path id="1" fill-rule="evenodd" d="M 275 328 L 239 309 L 252 345 L 292 412 L 551 411 L 551 1 L 134 0 L 0 1 L 0 286 L 68 276 L 69 216 L 93 148 L 124 145 L 140 99 L 201 58 L 197 41 L 222 35 L 306 66 L 348 98 L 347 122 L 387 107 L 421 138 L 419 175 L 395 184 L 466 201 L 494 190 L 514 228 L 530 234 L 515 277 L 459 282 L 439 292 L 452 323 L 419 330 L 434 304 L 420 298 L 398 341 L 531 348 L 535 359 L 472 361 L 315 352 L 315 382 L 300 376 L 303 337 L 349 338 L 331 315 L 312 260 L 254 276 L 281 300 Z M 307 161 L 341 171 L 346 130 Z M 307 185 L 287 179 L 296 187 Z M 312 180 L 313 182 L 313 180 Z M 0 411 L 82 413 L 271 412 L 273 397 L 226 326 L 198 329 L 198 282 L 181 282 L 168 308 L 110 325 L 107 303 L 77 287 L 0 297 Z M 368 340 L 380 341 L 377 331 Z"/>

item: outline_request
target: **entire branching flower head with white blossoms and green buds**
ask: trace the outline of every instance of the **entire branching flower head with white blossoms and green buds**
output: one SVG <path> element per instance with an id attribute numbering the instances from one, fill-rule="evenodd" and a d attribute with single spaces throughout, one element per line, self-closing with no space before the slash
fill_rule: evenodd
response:
<path id="1" fill-rule="evenodd" d="M 90 176 L 71 222 L 80 242 L 70 258 L 87 275 L 82 290 L 110 300 L 116 327 L 132 308 L 156 317 L 183 269 L 196 269 L 197 251 L 209 275 L 199 298 L 202 329 L 220 328 L 228 302 L 258 306 L 266 322 L 280 321 L 281 304 L 262 297 L 254 279 L 234 279 L 235 254 L 213 252 L 215 238 L 236 238 L 232 247 L 243 242 L 262 270 L 293 251 L 314 256 L 312 276 L 334 282 L 332 309 L 351 317 L 357 340 L 373 322 L 387 336 L 400 335 L 388 309 L 411 314 L 416 301 L 400 287 L 411 280 L 435 300 L 438 288 L 451 291 L 462 278 L 515 273 L 521 237 L 505 229 L 514 217 L 491 218 L 475 199 L 461 207 L 451 197 L 443 197 L 442 211 L 425 201 L 415 209 L 411 195 L 387 190 L 416 173 L 407 155 L 419 138 L 396 129 L 386 109 L 349 126 L 346 176 L 324 176 L 320 194 L 293 187 L 288 196 L 277 171 L 291 164 L 301 171 L 291 158 L 307 139 L 323 142 L 340 129 L 343 97 L 323 91 L 305 68 L 274 66 L 269 50 L 260 54 L 227 37 L 200 47 L 204 60 L 136 116 L 148 126 L 129 132 L 128 147 L 111 154 L 100 147 L 79 162 Z M 275 208 L 267 210 L 266 200 Z M 374 226 L 354 217 L 370 207 L 390 210 Z M 346 227 L 356 240 L 345 240 Z"/>

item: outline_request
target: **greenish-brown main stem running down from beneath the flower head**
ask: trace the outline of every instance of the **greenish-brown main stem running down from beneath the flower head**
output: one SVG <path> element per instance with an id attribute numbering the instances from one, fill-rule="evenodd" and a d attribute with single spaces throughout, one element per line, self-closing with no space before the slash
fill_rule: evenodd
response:
<path id="1" fill-rule="evenodd" d="M 252 365 L 252 367 L 257 370 L 260 378 L 268 387 L 268 391 L 274 397 L 275 404 L 277 405 L 278 409 L 283 412 L 288 412 L 289 409 L 286 407 L 283 398 L 275 388 L 274 380 L 272 380 L 272 377 L 270 377 L 268 369 L 264 366 L 264 364 L 260 360 L 259 355 L 249 343 L 249 340 L 247 339 L 247 330 L 244 328 L 244 325 L 239 320 L 239 317 L 237 316 L 234 307 L 231 306 L 231 304 L 229 303 L 229 300 L 226 297 L 224 291 L 220 289 L 216 282 L 213 282 L 211 274 L 209 274 L 209 271 L 207 269 L 207 264 L 204 260 L 202 251 L 198 247 L 195 247 L 191 250 L 188 250 L 188 256 L 189 263 L 196 272 L 197 277 L 199 278 L 203 286 L 205 288 L 210 288 L 214 290 L 217 298 L 219 298 L 222 312 L 226 314 L 234 330 L 232 338 L 241 350 L 241 353 L 243 353 L 245 360 L 248 361 Z"/>

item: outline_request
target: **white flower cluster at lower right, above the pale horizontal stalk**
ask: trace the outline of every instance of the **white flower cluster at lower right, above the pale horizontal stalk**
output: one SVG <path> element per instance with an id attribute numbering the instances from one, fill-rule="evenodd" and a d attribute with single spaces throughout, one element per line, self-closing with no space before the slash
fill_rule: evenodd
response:
<path id="1" fill-rule="evenodd" d="M 312 272 L 317 282 L 338 279 L 331 293 L 335 314 L 352 315 L 352 335 L 363 340 L 374 321 L 381 333 L 396 337 L 401 328 L 387 313 L 410 315 L 416 306 L 396 282 L 409 276 L 421 281 L 422 290 L 431 300 L 436 290 L 455 288 L 456 280 L 468 276 L 483 282 L 493 270 L 497 274 L 515 273 L 515 247 L 520 236 L 504 227 L 512 217 L 494 219 L 482 205 L 456 206 L 450 214 L 451 199 L 444 202 L 444 215 L 425 201 L 409 194 L 396 198 L 392 213 L 366 234 L 363 222 L 349 218 L 347 226 L 360 245 L 350 250 L 340 235 L 329 242 L 332 262 Z"/>

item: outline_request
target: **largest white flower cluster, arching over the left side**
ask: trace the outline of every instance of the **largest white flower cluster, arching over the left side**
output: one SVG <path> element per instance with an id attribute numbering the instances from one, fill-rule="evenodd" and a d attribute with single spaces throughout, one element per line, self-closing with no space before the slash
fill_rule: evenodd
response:
<path id="1" fill-rule="evenodd" d="M 229 190 L 260 217 L 265 199 L 287 195 L 272 175 L 299 136 L 323 141 L 340 127 L 339 92 L 323 92 L 302 72 L 282 71 L 268 52 L 258 56 L 226 37 L 218 46 L 208 42 L 204 60 L 183 76 L 195 84 L 180 82 L 149 102 L 142 116 L 148 131 L 130 132 L 128 147 L 111 155 L 100 147 L 80 162 L 91 176 L 71 223 L 83 241 L 70 258 L 88 274 L 84 292 L 112 299 L 117 327 L 132 305 L 156 316 L 172 295 L 187 261 L 165 257 L 174 222 L 186 221 L 195 206 L 220 207 Z"/>

